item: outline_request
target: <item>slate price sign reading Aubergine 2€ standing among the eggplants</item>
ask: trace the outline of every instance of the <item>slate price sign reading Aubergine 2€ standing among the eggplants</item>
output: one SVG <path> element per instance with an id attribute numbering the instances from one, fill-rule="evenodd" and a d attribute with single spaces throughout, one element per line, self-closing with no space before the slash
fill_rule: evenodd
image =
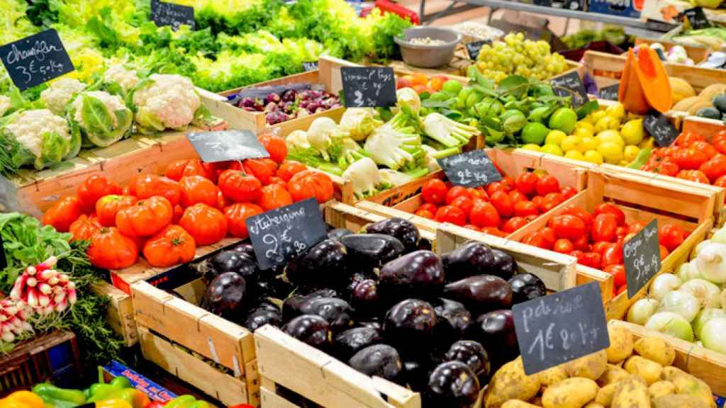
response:
<path id="1" fill-rule="evenodd" d="M 314 198 L 251 216 L 245 224 L 261 269 L 285 264 L 327 237 Z"/>

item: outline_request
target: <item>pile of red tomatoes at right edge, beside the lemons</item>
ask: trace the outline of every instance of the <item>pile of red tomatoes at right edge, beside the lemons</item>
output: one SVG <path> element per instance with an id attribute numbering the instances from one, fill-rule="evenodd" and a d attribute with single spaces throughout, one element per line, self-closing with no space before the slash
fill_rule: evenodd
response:
<path id="1" fill-rule="evenodd" d="M 641 170 L 726 187 L 726 131 L 706 137 L 683 132 L 669 147 L 659 147 Z"/>

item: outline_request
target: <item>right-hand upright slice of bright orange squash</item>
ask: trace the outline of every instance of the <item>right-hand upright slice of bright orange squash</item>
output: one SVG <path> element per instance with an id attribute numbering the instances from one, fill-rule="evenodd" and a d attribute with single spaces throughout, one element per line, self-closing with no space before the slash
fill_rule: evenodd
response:
<path id="1" fill-rule="evenodd" d="M 671 83 L 656 50 L 640 47 L 637 54 L 637 78 L 650 107 L 658 112 L 666 112 L 671 108 Z"/>

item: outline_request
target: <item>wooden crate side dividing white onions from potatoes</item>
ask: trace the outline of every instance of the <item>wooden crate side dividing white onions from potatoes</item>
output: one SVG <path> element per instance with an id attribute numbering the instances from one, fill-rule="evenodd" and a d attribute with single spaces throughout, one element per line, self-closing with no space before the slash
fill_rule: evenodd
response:
<path id="1" fill-rule="evenodd" d="M 611 320 L 608 322 L 608 326 L 622 327 L 628 330 L 635 337 L 635 340 L 643 337 L 656 337 L 668 341 L 676 349 L 676 359 L 673 362 L 675 367 L 706 381 L 714 394 L 726 395 L 726 378 L 724 378 L 726 356 L 724 354 L 707 350 L 695 343 L 674 338 L 656 330 L 646 329 L 643 326 L 633 325 L 629 322 Z"/>

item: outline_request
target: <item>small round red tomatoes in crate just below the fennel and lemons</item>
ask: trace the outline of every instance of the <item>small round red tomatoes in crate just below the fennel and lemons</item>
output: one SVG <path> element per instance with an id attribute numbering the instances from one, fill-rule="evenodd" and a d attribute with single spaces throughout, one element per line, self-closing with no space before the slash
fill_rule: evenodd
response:
<path id="1" fill-rule="evenodd" d="M 534 172 L 476 188 L 432 179 L 421 189 L 423 205 L 415 215 L 505 237 L 575 194 L 572 187 L 560 187 L 554 176 Z"/>

